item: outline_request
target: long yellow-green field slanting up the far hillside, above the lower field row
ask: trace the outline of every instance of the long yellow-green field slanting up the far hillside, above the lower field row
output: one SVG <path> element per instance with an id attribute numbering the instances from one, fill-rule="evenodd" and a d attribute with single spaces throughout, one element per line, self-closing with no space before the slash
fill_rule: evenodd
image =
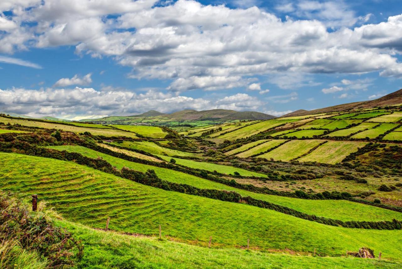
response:
<path id="1" fill-rule="evenodd" d="M 264 120 L 261 122 L 257 122 L 246 127 L 240 128 L 238 130 L 234 130 L 233 132 L 229 132 L 227 134 L 219 136 L 219 139 L 228 139 L 228 140 L 236 140 L 244 137 L 251 137 L 254 134 L 258 134 L 259 132 L 265 131 L 267 129 L 273 128 L 275 126 L 287 123 L 294 122 L 297 119 L 273 119 L 273 120 Z"/>

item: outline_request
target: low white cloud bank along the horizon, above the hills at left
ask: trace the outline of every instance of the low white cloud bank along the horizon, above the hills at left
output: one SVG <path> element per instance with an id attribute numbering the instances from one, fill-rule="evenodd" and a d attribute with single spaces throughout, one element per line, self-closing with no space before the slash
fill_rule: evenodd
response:
<path id="1" fill-rule="evenodd" d="M 248 94 L 234 94 L 224 98 L 204 99 L 148 90 L 135 93 L 129 90 L 104 88 L 41 89 L 11 88 L 0 90 L 0 111 L 28 116 L 57 116 L 88 118 L 99 115 L 132 115 L 158 110 L 173 112 L 183 109 L 259 110 L 264 103 Z M 74 114 L 74 116 L 72 115 Z"/>

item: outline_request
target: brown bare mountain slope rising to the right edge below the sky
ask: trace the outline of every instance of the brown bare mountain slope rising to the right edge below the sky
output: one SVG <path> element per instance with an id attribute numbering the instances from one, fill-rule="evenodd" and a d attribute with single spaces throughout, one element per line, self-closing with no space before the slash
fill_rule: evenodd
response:
<path id="1" fill-rule="evenodd" d="M 293 117 L 293 116 L 306 116 L 310 114 L 320 114 L 325 112 L 336 112 L 336 111 L 345 111 L 355 108 L 373 108 L 375 106 L 390 106 L 395 104 L 402 104 L 402 89 L 391 94 L 387 94 L 386 96 L 380 97 L 375 100 L 371 101 L 362 101 L 362 102 L 354 102 L 354 103 L 347 103 L 347 104 L 340 104 L 336 106 L 328 106 L 326 108 L 320 108 L 315 110 L 296 110 L 286 115 L 281 116 L 283 117 Z"/>

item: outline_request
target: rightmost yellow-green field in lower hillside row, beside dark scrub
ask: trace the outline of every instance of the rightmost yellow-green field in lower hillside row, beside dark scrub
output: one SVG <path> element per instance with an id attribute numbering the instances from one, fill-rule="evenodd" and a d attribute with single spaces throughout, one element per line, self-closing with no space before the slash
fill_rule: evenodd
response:
<path id="1" fill-rule="evenodd" d="M 363 147 L 366 144 L 365 142 L 328 141 L 308 155 L 301 157 L 299 161 L 316 161 L 318 163 L 330 164 L 340 163 L 347 155 L 357 151 L 359 147 Z"/>

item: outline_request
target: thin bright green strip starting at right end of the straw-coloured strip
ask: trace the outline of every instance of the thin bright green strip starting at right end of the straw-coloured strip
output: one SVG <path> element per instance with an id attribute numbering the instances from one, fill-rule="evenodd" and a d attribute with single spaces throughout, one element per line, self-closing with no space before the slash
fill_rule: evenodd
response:
<path id="1" fill-rule="evenodd" d="M 245 169 L 228 166 L 228 165 L 219 165 L 219 164 L 215 164 L 215 163 L 207 163 L 207 162 L 199 162 L 199 161 L 193 161 L 193 160 L 187 160 L 187 159 L 171 158 L 171 157 L 162 156 L 162 155 L 159 155 L 159 157 L 161 157 L 162 159 L 164 159 L 166 161 L 170 161 L 170 159 L 174 159 L 176 161 L 176 164 L 179 164 L 179 165 L 184 165 L 184 166 L 196 168 L 196 169 L 204 169 L 204 170 L 211 171 L 211 172 L 217 171 L 219 173 L 224 173 L 227 175 L 233 174 L 234 172 L 238 172 L 238 173 L 240 173 L 240 175 L 246 176 L 246 177 L 252 177 L 252 176 L 267 177 L 267 175 L 262 174 L 262 173 L 252 172 L 252 171 L 248 171 Z"/>

